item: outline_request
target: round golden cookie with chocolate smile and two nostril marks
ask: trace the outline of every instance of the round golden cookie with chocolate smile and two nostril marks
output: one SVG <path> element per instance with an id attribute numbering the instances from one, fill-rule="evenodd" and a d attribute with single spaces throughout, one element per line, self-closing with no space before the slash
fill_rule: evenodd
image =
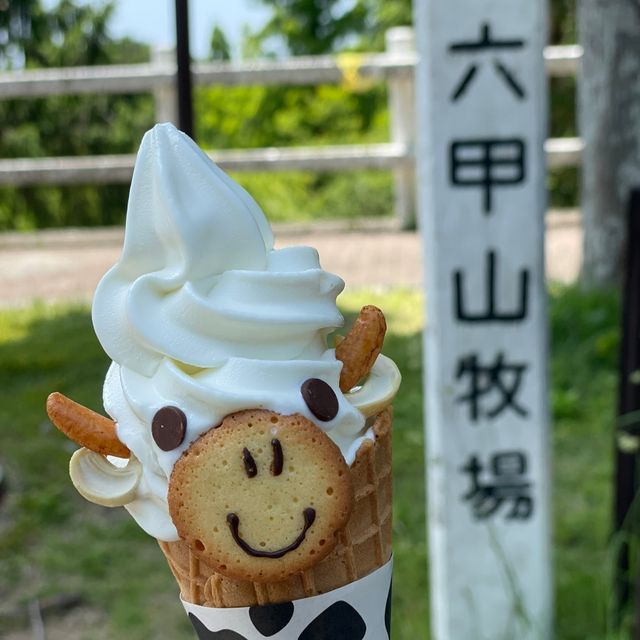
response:
<path id="1" fill-rule="evenodd" d="M 353 503 L 349 468 L 313 422 L 249 410 L 227 416 L 176 463 L 169 511 L 180 537 L 230 578 L 276 582 L 335 546 Z"/>

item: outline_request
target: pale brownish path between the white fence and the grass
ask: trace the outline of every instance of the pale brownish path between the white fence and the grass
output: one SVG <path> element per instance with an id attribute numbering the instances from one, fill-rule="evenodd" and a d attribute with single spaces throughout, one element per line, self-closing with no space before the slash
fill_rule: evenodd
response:
<path id="1" fill-rule="evenodd" d="M 344 278 L 348 288 L 422 286 L 418 233 L 365 223 L 351 230 L 339 224 L 275 226 L 275 234 L 279 247 L 316 247 L 322 266 Z M 121 229 L 0 234 L 0 306 L 22 306 L 34 299 L 88 301 L 121 247 Z M 549 214 L 547 276 L 572 282 L 581 261 L 579 215 Z"/>

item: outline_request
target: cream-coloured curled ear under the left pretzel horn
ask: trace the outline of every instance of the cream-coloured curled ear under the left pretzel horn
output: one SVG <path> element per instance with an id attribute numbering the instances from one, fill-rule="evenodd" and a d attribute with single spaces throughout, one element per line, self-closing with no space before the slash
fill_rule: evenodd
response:
<path id="1" fill-rule="evenodd" d="M 83 447 L 71 456 L 69 475 L 78 493 L 90 502 L 122 507 L 136 498 L 142 465 L 131 454 L 125 465 L 118 466 Z"/>

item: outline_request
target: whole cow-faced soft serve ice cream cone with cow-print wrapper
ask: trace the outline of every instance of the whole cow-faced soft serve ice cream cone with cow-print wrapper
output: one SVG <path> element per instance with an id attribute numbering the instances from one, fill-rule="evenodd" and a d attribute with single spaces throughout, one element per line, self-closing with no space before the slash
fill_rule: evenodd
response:
<path id="1" fill-rule="evenodd" d="M 371 305 L 328 346 L 343 287 L 187 136 L 147 132 L 92 307 L 110 418 L 49 414 L 78 491 L 161 541 L 200 637 L 388 640 L 401 376 Z"/>

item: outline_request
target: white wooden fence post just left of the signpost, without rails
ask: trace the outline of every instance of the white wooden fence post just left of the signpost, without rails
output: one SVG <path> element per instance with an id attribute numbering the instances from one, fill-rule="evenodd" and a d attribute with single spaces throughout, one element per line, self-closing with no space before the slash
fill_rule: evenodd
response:
<path id="1" fill-rule="evenodd" d="M 387 53 L 406 55 L 415 52 L 411 27 L 393 27 L 385 33 Z M 415 141 L 415 80 L 413 73 L 389 77 L 389 120 L 391 141 L 413 147 Z M 416 221 L 416 182 L 413 163 L 403 163 L 393 170 L 394 210 L 402 229 L 410 229 Z"/>

